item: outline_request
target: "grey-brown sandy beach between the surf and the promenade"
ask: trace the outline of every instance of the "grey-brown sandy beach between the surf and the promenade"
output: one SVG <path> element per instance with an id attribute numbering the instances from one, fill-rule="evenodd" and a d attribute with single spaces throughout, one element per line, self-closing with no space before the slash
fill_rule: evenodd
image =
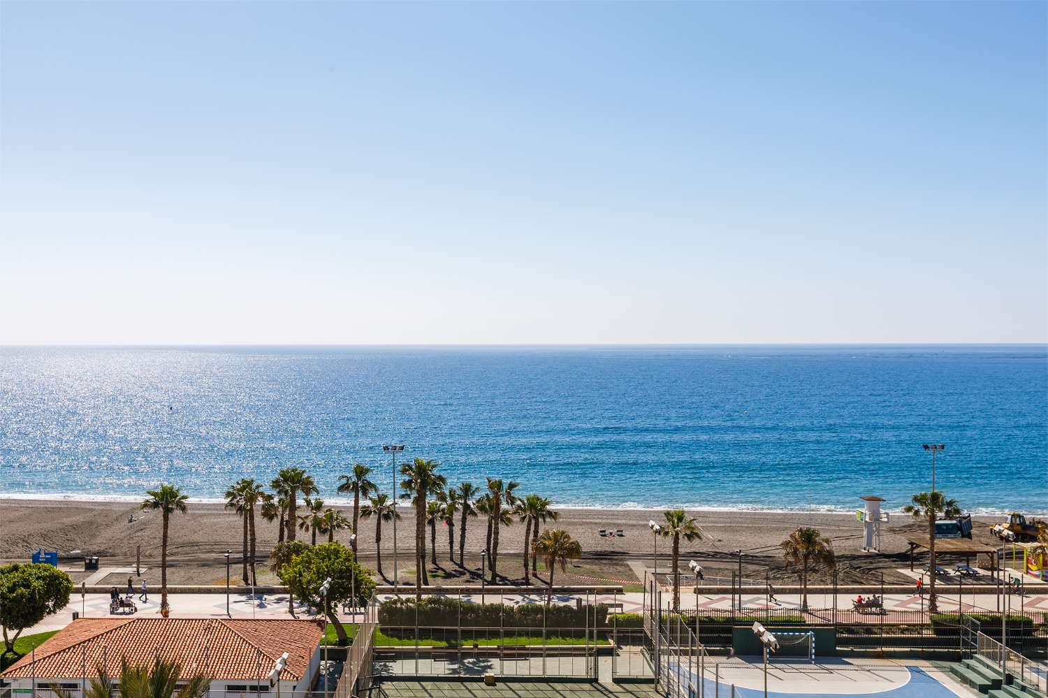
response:
<path id="1" fill-rule="evenodd" d="M 171 520 L 169 546 L 170 584 L 224 584 L 223 552 L 232 549 L 239 560 L 241 548 L 241 522 L 239 518 L 217 503 L 191 503 L 189 515 L 176 515 Z M 147 581 L 159 582 L 156 568 L 160 555 L 160 517 L 139 510 L 131 502 L 0 500 L 0 559 L 14 562 L 28 559 L 32 550 L 58 550 L 66 558 L 99 555 L 103 566 L 133 564 L 137 546 L 141 546 L 143 564 L 151 569 Z M 351 507 L 345 507 L 347 517 Z M 572 567 L 564 579 L 567 584 L 609 580 L 617 583 L 636 583 L 643 570 L 651 569 L 654 537 L 648 528 L 649 519 L 661 518 L 660 510 L 646 509 L 571 509 L 560 510 L 558 526 L 567 529 L 582 544 L 584 559 Z M 736 566 L 735 551 L 743 550 L 745 576 L 791 582 L 796 579 L 793 570 L 786 570 L 779 543 L 800 525 L 814 526 L 832 539 L 837 554 L 840 583 L 873 583 L 883 572 L 886 582 L 904 582 L 905 576 L 896 570 L 909 565 L 907 533 L 917 533 L 923 526 L 897 516 L 882 529 L 880 554 L 861 550 L 861 524 L 847 514 L 800 514 L 755 511 L 692 511 L 699 520 L 704 539 L 681 543 L 681 568 L 696 559 L 707 575 L 729 576 Z M 128 523 L 128 517 L 135 521 Z M 397 525 L 399 551 L 398 571 L 402 580 L 413 579 L 412 512 L 403 507 L 403 517 Z M 976 524 L 976 540 L 992 542 L 986 531 L 988 519 Z M 363 519 L 359 526 L 359 553 L 364 564 L 376 569 L 374 554 L 375 526 L 373 520 Z M 621 529 L 623 537 L 601 537 L 599 529 Z M 277 542 L 277 524 L 263 520 L 257 522 L 258 554 L 267 558 Z M 466 567 L 479 568 L 479 551 L 484 547 L 484 523 L 471 519 L 466 527 Z M 341 531 L 339 540 L 346 542 L 348 531 Z M 501 533 L 499 572 L 507 582 L 522 576 L 521 552 L 524 526 L 515 524 Z M 299 531 L 308 542 L 308 532 Z M 322 537 L 323 538 L 323 537 Z M 458 529 L 455 531 L 456 555 Z M 429 566 L 431 581 L 435 584 L 470 583 L 476 575 L 449 562 L 447 528 L 437 528 L 437 565 Z M 429 544 L 429 530 L 427 531 Z M 383 568 L 392 577 L 393 532 L 389 524 L 383 527 Z M 670 541 L 659 539 L 660 569 L 669 566 Z M 428 558 L 430 555 L 428 554 Z M 239 580 L 239 565 L 234 566 L 233 577 Z M 74 581 L 86 574 L 74 574 Z M 118 575 L 106 583 L 116 583 Z M 812 576 L 812 583 L 826 581 L 825 573 Z M 268 569 L 259 570 L 259 582 L 275 577 Z"/>

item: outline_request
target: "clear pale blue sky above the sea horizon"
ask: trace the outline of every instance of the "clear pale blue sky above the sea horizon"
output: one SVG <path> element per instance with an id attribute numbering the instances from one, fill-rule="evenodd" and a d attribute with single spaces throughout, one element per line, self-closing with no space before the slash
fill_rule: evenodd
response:
<path id="1" fill-rule="evenodd" d="M 1048 341 L 1046 3 L 0 5 L 0 344 Z"/>

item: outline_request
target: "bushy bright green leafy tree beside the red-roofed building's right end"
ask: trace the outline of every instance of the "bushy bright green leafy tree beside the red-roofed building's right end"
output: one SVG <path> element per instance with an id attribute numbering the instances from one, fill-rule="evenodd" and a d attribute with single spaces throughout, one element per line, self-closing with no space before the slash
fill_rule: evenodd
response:
<path id="1" fill-rule="evenodd" d="M 327 603 L 321 601 L 320 588 L 331 580 Z M 280 580 L 313 608 L 325 612 L 334 624 L 339 644 L 347 641 L 346 629 L 339 621 L 339 605 L 353 598 L 356 606 L 365 605 L 375 593 L 375 581 L 356 563 L 353 551 L 342 543 L 324 543 L 296 555 L 281 568 Z"/>

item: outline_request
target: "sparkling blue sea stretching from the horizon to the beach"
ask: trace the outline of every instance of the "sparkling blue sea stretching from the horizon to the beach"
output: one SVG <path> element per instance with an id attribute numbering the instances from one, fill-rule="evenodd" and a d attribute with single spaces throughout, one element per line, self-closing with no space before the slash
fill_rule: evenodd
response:
<path id="1" fill-rule="evenodd" d="M 301 465 L 337 500 L 384 442 L 561 506 L 1048 511 L 1048 348 L 0 348 L 0 497 L 213 500 Z"/>

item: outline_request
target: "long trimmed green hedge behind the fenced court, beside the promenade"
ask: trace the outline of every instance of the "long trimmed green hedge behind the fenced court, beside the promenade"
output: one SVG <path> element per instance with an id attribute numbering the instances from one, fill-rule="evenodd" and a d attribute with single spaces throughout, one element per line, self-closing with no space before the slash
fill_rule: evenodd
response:
<path id="1" fill-rule="evenodd" d="M 594 618 L 595 614 L 595 618 Z M 414 598 L 391 598 L 378 607 L 378 625 L 383 628 L 399 626 L 422 628 L 542 628 L 545 615 L 546 628 L 592 627 L 594 619 L 601 627 L 607 623 L 608 607 L 605 604 L 583 606 L 550 606 L 542 604 L 472 604 L 457 598 L 427 596 L 420 602 Z M 587 624 L 587 615 L 589 624 Z"/>

